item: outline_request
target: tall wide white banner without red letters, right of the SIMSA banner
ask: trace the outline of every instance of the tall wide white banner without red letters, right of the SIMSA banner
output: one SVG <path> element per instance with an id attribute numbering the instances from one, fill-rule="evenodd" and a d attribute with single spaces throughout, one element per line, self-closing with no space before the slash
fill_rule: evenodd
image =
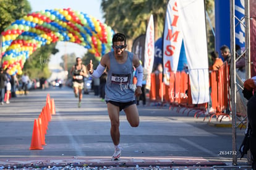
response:
<path id="1" fill-rule="evenodd" d="M 205 7 L 202 0 L 177 1 L 189 66 L 192 103 L 209 101 L 209 73 Z"/>

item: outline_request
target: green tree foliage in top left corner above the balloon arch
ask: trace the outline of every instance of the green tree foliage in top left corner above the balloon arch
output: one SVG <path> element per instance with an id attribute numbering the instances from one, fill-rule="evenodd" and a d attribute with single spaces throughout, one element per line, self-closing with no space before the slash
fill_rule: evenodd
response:
<path id="1" fill-rule="evenodd" d="M 27 0 L 0 0 L 0 32 L 31 11 Z"/>

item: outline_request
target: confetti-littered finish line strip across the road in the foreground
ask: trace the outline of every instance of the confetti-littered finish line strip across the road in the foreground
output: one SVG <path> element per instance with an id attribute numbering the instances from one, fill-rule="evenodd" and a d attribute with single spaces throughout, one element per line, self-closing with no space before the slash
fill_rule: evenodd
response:
<path id="1" fill-rule="evenodd" d="M 227 166 L 222 161 L 209 161 L 205 158 L 178 157 L 178 156 L 155 156 L 155 157 L 122 157 L 120 161 L 111 161 L 109 157 L 96 156 L 40 156 L 27 158 L 0 158 L 0 165 L 4 168 L 44 168 L 44 167 L 212 167 Z"/>

